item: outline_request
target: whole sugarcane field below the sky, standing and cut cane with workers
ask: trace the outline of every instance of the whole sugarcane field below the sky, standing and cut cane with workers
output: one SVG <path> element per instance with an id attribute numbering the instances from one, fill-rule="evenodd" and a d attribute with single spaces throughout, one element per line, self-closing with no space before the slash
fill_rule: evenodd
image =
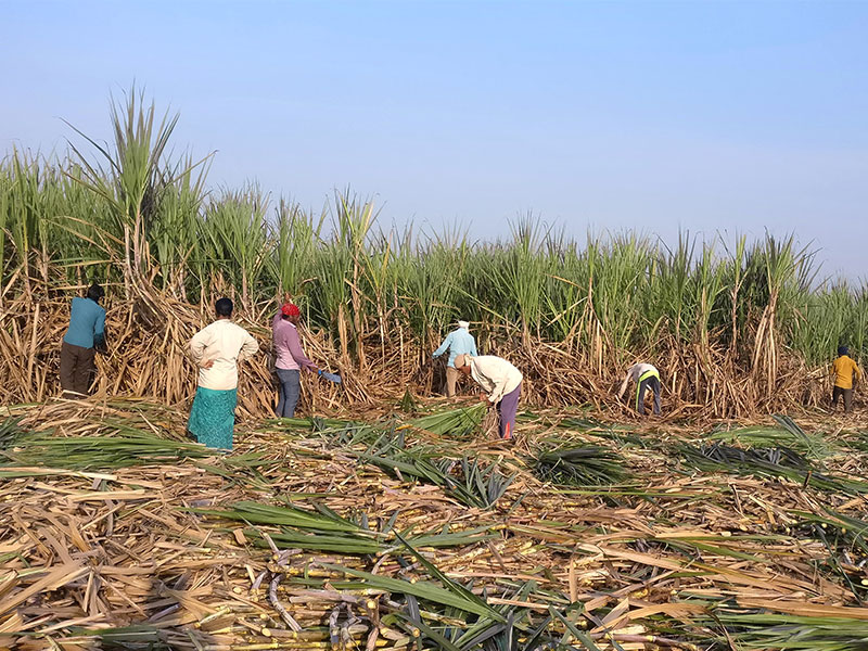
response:
<path id="1" fill-rule="evenodd" d="M 809 246 L 400 230 L 111 107 L 0 163 L 0 648 L 868 649 L 868 293 Z"/>

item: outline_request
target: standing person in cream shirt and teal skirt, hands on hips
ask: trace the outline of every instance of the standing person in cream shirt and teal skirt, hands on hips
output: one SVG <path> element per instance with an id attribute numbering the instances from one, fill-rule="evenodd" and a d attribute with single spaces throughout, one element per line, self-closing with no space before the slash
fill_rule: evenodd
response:
<path id="1" fill-rule="evenodd" d="M 199 386 L 187 429 L 210 448 L 232 449 L 238 403 L 238 365 L 253 357 L 259 344 L 231 321 L 232 302 L 214 304 L 217 320 L 190 340 L 190 356 L 199 367 Z"/>

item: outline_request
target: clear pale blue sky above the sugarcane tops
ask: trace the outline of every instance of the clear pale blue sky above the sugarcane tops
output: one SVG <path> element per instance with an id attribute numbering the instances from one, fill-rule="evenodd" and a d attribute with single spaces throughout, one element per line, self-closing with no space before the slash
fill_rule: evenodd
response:
<path id="1" fill-rule="evenodd" d="M 135 78 L 257 179 L 384 226 L 793 230 L 868 277 L 868 2 L 0 0 L 0 151 L 108 135 Z"/>

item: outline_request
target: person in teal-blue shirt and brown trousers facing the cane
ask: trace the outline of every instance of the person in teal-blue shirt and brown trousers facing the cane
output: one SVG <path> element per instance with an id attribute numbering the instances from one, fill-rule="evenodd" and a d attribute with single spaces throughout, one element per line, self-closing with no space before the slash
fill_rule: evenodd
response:
<path id="1" fill-rule="evenodd" d="M 73 298 L 69 328 L 61 344 L 61 387 L 66 398 L 87 396 L 97 375 L 97 350 L 105 346 L 103 296 L 105 291 L 94 282 L 87 298 Z"/>

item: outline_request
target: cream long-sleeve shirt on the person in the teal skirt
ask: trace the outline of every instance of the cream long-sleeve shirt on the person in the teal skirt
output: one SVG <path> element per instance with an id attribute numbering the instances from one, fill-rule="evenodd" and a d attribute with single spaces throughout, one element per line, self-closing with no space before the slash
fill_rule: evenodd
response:
<path id="1" fill-rule="evenodd" d="M 190 340 L 190 356 L 199 366 L 199 385 L 214 391 L 238 387 L 238 362 L 256 355 L 259 344 L 241 326 L 218 319 Z M 202 362 L 214 360 L 203 369 Z"/>

